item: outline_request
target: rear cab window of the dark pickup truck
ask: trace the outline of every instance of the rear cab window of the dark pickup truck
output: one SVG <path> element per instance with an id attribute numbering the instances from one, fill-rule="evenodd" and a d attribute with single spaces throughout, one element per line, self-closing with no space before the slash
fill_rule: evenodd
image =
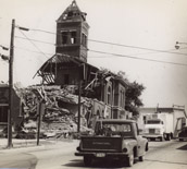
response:
<path id="1" fill-rule="evenodd" d="M 99 121 L 96 123 L 97 135 L 132 135 L 132 126 L 129 123 L 113 123 Z"/>

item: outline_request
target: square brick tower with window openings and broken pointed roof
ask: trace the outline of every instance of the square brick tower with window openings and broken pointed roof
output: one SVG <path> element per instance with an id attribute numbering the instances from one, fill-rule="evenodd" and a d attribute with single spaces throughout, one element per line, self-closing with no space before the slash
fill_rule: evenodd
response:
<path id="1" fill-rule="evenodd" d="M 86 13 L 73 0 L 57 21 L 57 53 L 76 57 L 87 62 L 87 37 L 89 25 Z"/>

